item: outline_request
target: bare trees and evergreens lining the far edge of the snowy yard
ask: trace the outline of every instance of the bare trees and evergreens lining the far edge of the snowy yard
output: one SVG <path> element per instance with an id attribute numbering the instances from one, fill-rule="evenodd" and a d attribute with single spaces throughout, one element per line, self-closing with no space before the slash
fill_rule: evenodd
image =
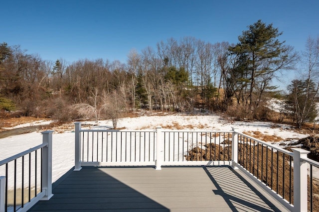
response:
<path id="1" fill-rule="evenodd" d="M 237 44 L 170 38 L 156 49 L 132 50 L 126 63 L 45 61 L 3 42 L 0 109 L 2 115 L 18 111 L 59 120 L 112 118 L 115 125 L 117 117 L 137 108 L 267 119 L 266 99 L 278 94 L 272 80 L 282 70 L 305 64 L 301 71 L 306 77 L 299 79 L 302 83 L 293 81 L 285 96 L 286 116 L 302 125 L 312 121 L 318 96 L 318 42 L 310 38 L 308 53 L 302 55 L 279 41 L 280 35 L 278 28 L 259 20 L 238 36 Z"/>

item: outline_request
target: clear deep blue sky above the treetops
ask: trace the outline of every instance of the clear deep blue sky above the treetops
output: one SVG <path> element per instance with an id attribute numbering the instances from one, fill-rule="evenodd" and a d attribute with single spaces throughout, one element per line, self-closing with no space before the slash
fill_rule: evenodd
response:
<path id="1" fill-rule="evenodd" d="M 319 0 L 3 0 L 0 7 L 0 42 L 52 61 L 126 62 L 131 49 L 171 37 L 237 43 L 258 19 L 298 51 L 319 35 Z"/>

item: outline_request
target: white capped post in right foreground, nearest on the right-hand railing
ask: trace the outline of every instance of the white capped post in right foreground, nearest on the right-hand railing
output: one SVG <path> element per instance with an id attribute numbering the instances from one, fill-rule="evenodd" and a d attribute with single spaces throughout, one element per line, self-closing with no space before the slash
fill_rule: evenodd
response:
<path id="1" fill-rule="evenodd" d="M 294 212 L 308 211 L 308 173 L 307 163 L 302 158 L 307 158 L 310 151 L 301 148 L 292 148 L 294 152 Z"/>

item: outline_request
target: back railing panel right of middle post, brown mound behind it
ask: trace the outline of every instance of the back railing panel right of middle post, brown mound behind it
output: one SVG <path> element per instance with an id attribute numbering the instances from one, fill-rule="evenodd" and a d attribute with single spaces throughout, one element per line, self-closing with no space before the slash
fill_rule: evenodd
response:
<path id="1" fill-rule="evenodd" d="M 232 131 L 162 130 L 162 165 L 230 165 Z"/>

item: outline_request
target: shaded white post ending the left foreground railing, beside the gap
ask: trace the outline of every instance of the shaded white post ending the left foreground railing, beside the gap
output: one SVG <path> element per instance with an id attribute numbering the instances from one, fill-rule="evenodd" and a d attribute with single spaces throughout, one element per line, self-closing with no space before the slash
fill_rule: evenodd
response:
<path id="1" fill-rule="evenodd" d="M 52 194 L 52 133 L 44 131 L 42 133 L 42 143 L 46 146 L 42 150 L 42 189 L 46 190 L 46 195 L 41 200 L 50 200 Z"/>

